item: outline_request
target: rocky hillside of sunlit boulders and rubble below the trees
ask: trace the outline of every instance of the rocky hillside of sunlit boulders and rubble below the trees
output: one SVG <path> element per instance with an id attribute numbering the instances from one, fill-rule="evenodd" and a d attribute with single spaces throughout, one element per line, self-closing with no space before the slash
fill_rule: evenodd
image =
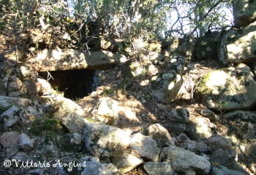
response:
<path id="1" fill-rule="evenodd" d="M 136 52 L 1 33 L 0 174 L 256 174 L 256 18 L 234 6 L 236 28 Z"/>

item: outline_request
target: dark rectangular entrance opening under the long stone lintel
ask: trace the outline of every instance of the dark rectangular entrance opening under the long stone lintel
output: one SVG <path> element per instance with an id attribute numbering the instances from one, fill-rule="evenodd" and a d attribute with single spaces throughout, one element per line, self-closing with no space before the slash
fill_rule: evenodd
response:
<path id="1" fill-rule="evenodd" d="M 89 69 L 49 71 L 53 79 L 49 79 L 53 88 L 64 92 L 64 97 L 72 100 L 88 96 L 97 88 L 97 72 Z M 48 79 L 48 72 L 38 72 L 39 77 Z"/>

